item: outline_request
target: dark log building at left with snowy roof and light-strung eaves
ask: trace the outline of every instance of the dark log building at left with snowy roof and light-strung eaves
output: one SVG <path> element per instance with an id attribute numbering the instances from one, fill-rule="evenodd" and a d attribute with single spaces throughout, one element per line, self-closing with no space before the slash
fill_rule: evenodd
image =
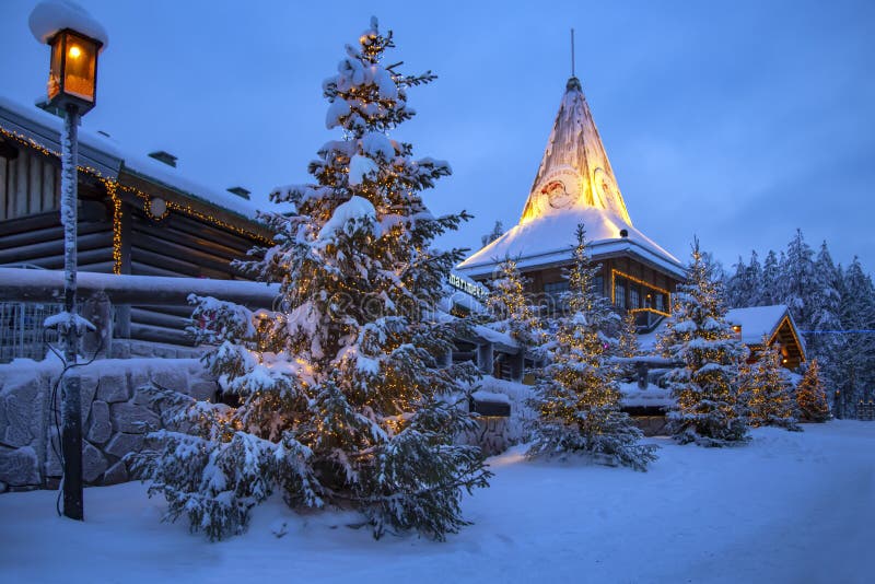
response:
<path id="1" fill-rule="evenodd" d="M 0 266 L 63 268 L 61 119 L 0 98 Z M 79 267 L 117 275 L 245 278 L 231 266 L 269 243 L 248 194 L 196 185 L 166 152 L 122 153 L 108 136 L 80 130 Z M 131 306 L 120 337 L 185 342 L 190 307 Z"/>

